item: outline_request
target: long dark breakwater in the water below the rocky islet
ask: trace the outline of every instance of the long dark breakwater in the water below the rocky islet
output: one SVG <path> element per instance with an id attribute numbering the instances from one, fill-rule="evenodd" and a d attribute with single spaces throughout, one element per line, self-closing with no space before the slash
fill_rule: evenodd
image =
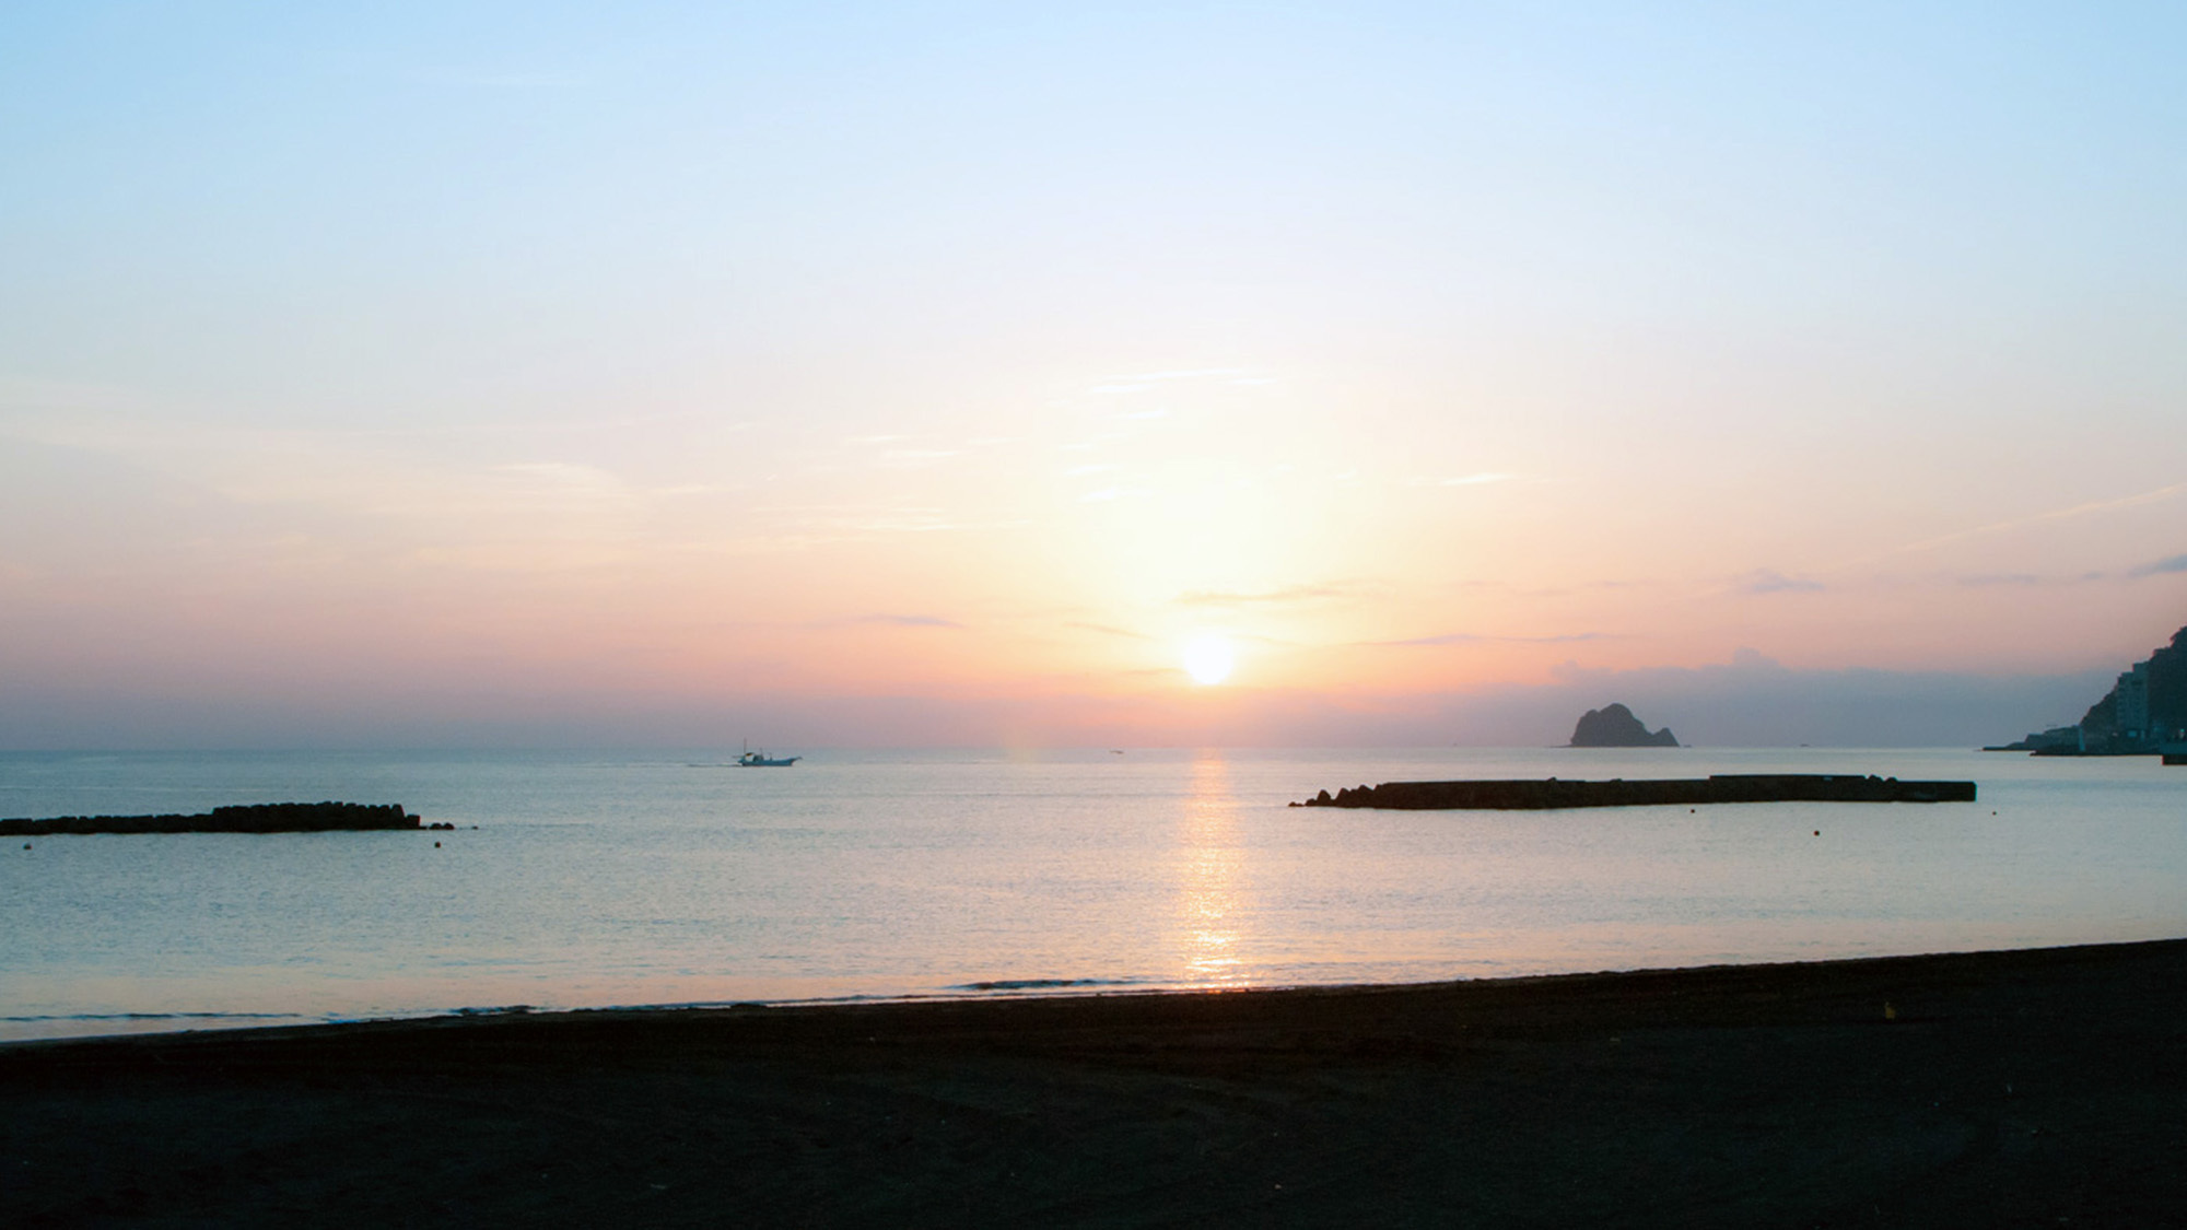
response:
<path id="1" fill-rule="evenodd" d="M 1898 781 L 1837 773 L 1719 773 L 1625 781 L 1384 781 L 1293 808 L 1391 808 L 1537 812 L 1551 808 L 1649 808 L 1695 803 L 1973 803 L 1973 781 Z"/>

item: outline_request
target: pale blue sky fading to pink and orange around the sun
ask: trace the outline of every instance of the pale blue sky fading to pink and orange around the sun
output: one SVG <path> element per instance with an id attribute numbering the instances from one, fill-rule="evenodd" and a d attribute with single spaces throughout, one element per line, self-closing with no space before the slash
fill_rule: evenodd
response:
<path id="1" fill-rule="evenodd" d="M 0 746 L 2071 722 L 2187 624 L 2183 61 L 2172 4 L 11 4 Z"/>

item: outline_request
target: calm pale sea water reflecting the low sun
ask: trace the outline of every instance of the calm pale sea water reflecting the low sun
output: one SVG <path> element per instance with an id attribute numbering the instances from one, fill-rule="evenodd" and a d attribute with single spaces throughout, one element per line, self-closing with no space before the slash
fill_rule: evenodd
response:
<path id="1" fill-rule="evenodd" d="M 0 753 L 0 816 L 402 803 L 453 832 L 0 843 L 0 1040 L 636 1005 L 1426 983 L 2187 937 L 2187 768 L 1960 749 Z M 1872 773 L 1975 803 L 1290 808 Z"/>

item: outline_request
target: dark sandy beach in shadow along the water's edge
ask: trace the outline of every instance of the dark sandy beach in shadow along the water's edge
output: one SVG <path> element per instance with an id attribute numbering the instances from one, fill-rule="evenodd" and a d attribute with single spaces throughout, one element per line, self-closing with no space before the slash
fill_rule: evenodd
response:
<path id="1" fill-rule="evenodd" d="M 2163 1226 L 2187 941 L 17 1044 L 0 1142 L 17 1226 Z"/>

